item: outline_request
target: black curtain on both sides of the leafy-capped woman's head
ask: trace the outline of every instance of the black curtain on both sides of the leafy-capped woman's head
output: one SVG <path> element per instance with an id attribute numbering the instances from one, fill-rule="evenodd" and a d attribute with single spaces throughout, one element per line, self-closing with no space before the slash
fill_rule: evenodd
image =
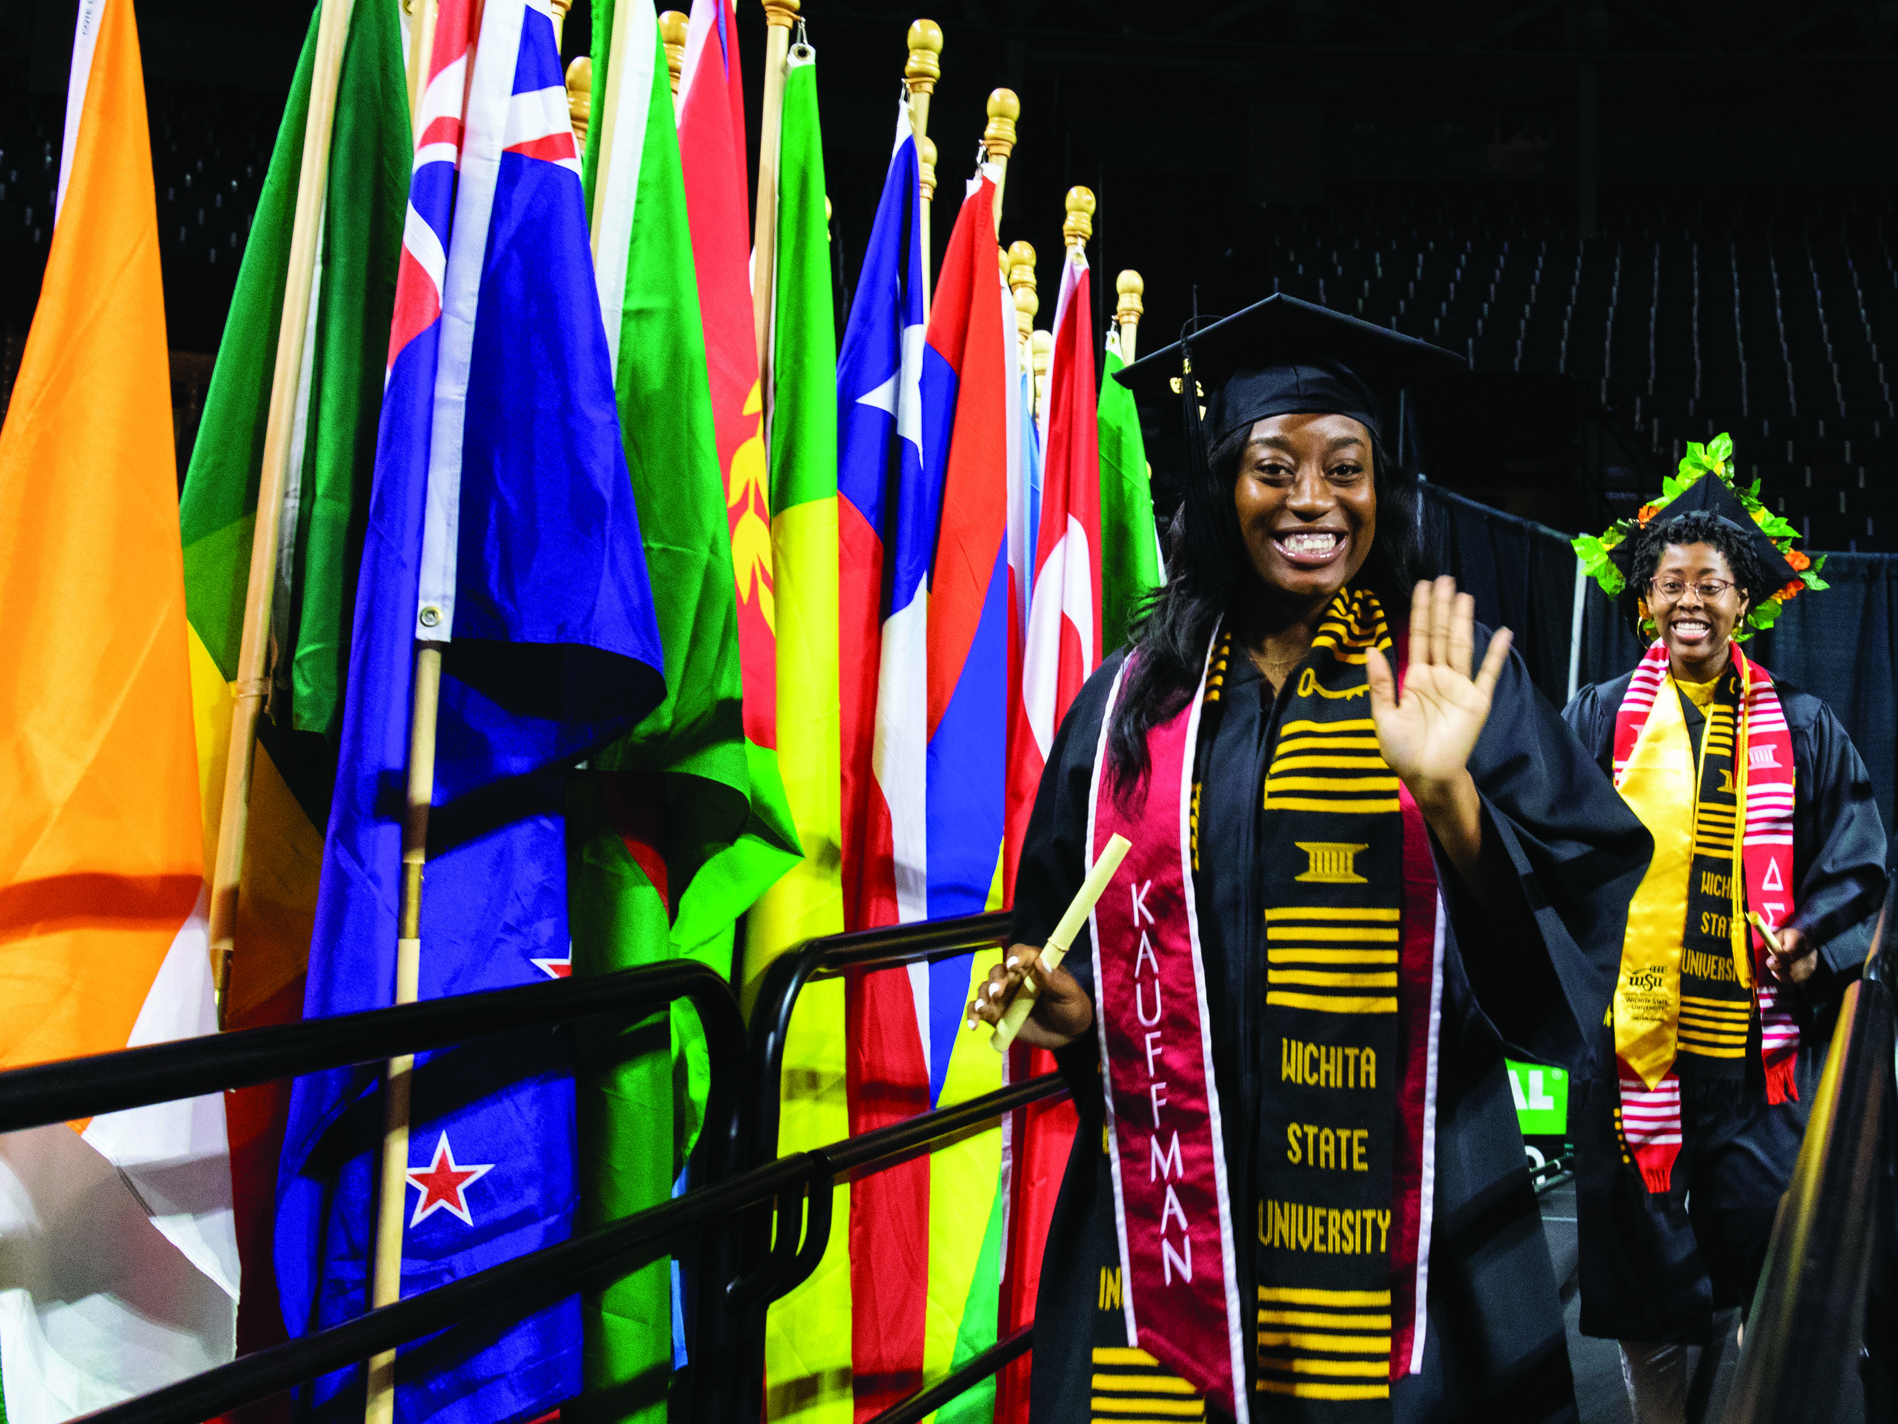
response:
<path id="1" fill-rule="evenodd" d="M 1562 706 L 1575 608 L 1568 535 L 1435 484 L 1424 486 L 1424 520 L 1439 568 L 1475 596 L 1477 619 L 1515 630 L 1535 685 Z M 1866 759 L 1890 835 L 1898 820 L 1898 554 L 1826 554 L 1824 575 L 1830 589 L 1794 598 L 1746 651 L 1839 716 Z M 1642 649 L 1589 579 L 1577 685 L 1619 678 Z"/>

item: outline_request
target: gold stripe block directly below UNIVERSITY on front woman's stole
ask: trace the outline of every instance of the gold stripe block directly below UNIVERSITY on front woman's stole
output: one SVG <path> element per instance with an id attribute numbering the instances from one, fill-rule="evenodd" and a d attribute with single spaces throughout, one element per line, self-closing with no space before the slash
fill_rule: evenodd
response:
<path id="1" fill-rule="evenodd" d="M 1258 1392 L 1389 1399 L 1391 1293 L 1258 1287 Z"/>

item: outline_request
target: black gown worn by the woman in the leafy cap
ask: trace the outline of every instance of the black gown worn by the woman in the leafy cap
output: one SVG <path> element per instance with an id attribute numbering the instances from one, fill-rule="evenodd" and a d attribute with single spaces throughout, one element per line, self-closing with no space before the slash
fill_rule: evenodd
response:
<path id="1" fill-rule="evenodd" d="M 1613 767 L 1615 712 L 1628 680 L 1583 687 L 1562 716 L 1604 771 Z M 1596 1073 L 1570 1094 L 1577 1152 L 1581 1329 L 1621 1340 L 1699 1344 L 1714 1312 L 1752 1302 L 1792 1181 L 1813 1092 L 1845 985 L 1871 947 L 1885 900 L 1885 822 L 1871 777 L 1832 708 L 1775 678 L 1794 756 L 1792 864 L 1797 908 L 1788 925 L 1818 946 L 1820 966 L 1786 995 L 1799 1023 L 1797 1097 L 1765 1101 L 1759 1025 L 1737 1094 L 1684 1094 L 1682 1152 L 1665 1196 L 1621 1160 L 1613 1111 L 1613 1027 L 1598 1023 Z M 1676 693 L 1680 695 L 1680 693 Z M 1682 699 L 1689 729 L 1701 712 Z M 1687 1206 L 1693 1206 L 1689 1217 Z"/>

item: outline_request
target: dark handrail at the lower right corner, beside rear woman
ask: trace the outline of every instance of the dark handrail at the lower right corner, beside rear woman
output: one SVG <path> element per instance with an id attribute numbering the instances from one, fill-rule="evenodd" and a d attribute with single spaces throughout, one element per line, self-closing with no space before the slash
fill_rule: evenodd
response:
<path id="1" fill-rule="evenodd" d="M 1890 1151 L 1898 883 L 1839 1006 L 1792 1185 L 1773 1223 L 1723 1424 L 1820 1424 L 1856 1388 L 1883 1152 Z"/>

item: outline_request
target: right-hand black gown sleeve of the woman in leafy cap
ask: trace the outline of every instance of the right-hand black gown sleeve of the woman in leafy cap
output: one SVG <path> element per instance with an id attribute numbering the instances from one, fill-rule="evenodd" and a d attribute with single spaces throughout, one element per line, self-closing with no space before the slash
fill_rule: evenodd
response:
<path id="1" fill-rule="evenodd" d="M 1822 1001 L 1843 991 L 1871 947 L 1871 917 L 1885 900 L 1885 820 L 1871 775 L 1830 706 L 1818 703 L 1792 740 L 1805 796 L 1796 811 L 1799 904 L 1788 923 L 1818 946 L 1824 970 L 1807 989 Z"/>

